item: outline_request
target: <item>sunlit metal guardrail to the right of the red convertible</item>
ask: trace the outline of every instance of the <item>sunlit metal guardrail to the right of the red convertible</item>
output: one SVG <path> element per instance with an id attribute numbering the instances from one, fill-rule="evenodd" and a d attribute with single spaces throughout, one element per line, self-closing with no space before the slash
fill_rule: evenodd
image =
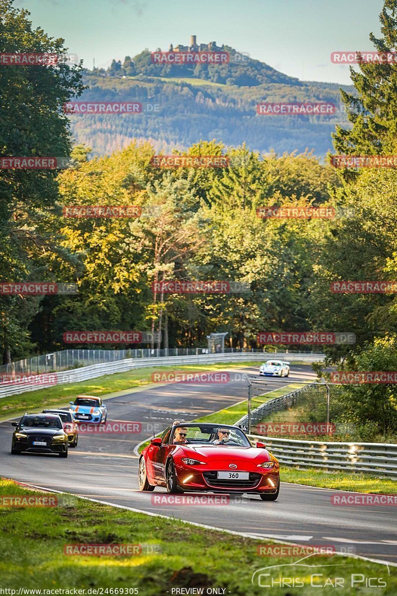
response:
<path id="1" fill-rule="evenodd" d="M 293 467 L 365 472 L 397 478 L 397 445 L 392 443 L 299 441 L 253 434 L 249 438 L 265 443 L 277 460 Z"/>

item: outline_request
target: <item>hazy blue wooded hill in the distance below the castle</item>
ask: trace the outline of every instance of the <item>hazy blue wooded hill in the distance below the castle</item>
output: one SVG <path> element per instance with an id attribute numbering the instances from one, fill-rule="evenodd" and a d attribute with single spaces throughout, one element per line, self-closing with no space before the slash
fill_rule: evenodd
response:
<path id="1" fill-rule="evenodd" d="M 151 141 L 157 150 L 180 150 L 199 140 L 217 139 L 226 145 L 246 142 L 252 150 L 304 151 L 318 156 L 332 150 L 336 123 L 346 124 L 343 111 L 333 116 L 258 116 L 256 105 L 267 102 L 335 103 L 339 85 L 304 82 L 247 56 L 230 52 L 222 65 L 153 64 L 149 51 L 112 61 L 107 72 L 86 70 L 85 91 L 79 101 L 149 101 L 160 104 L 157 114 L 72 116 L 77 142 L 94 154 L 110 154 L 133 138 Z M 238 52 L 237 52 L 238 54 Z M 349 92 L 352 86 L 342 86 Z"/>

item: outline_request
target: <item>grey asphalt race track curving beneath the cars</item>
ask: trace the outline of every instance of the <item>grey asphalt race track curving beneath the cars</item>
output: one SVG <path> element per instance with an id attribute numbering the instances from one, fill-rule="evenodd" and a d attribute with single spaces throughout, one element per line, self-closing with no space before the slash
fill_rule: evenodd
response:
<path id="1" fill-rule="evenodd" d="M 246 371 L 257 373 L 254 368 Z M 285 383 L 312 376 L 310 365 L 292 365 Z M 269 390 L 275 386 L 269 382 Z M 168 384 L 124 392 L 107 400 L 108 421 L 139 421 L 143 432 L 80 433 L 77 449 L 70 449 L 65 460 L 55 455 L 11 455 L 12 426 L 10 422 L 1 423 L 0 475 L 50 490 L 263 536 L 263 544 L 265 538 L 295 544 L 327 544 L 337 551 L 353 550 L 364 557 L 397 564 L 397 513 L 392 506 L 336 507 L 331 503 L 335 491 L 287 483 L 282 483 L 275 502 L 243 495 L 231 498 L 227 506 L 152 505 L 152 495 L 165 489 L 157 488 L 153 493 L 137 490 L 138 459 L 134 448 L 151 434 L 150 425 L 156 425 L 155 431 L 159 432 L 176 419 L 187 422 L 202 417 L 240 402 L 246 395 L 243 380 L 227 384 Z"/>

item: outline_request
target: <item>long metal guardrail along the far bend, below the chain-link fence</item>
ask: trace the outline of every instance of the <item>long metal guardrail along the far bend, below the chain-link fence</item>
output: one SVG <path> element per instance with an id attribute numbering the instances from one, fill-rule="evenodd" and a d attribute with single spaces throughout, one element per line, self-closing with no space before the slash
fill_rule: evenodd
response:
<path id="1" fill-rule="evenodd" d="M 263 362 L 269 357 L 266 353 L 221 353 L 221 354 L 200 354 L 192 356 L 159 356 L 158 358 L 126 358 L 115 362 L 108 362 L 107 364 L 93 364 L 89 367 L 76 368 L 68 371 L 60 371 L 57 374 L 57 385 L 64 383 L 78 383 L 79 381 L 86 381 L 90 378 L 102 377 L 105 374 L 124 373 L 133 368 L 143 367 L 165 367 L 178 366 L 184 364 L 216 364 L 217 362 L 244 362 L 254 361 Z M 271 358 L 285 359 L 286 354 L 272 353 Z M 324 354 L 312 353 L 294 353 L 287 354 L 289 362 L 321 362 L 324 359 Z M 49 386 L 54 386 L 48 385 Z M 36 389 L 43 389 L 43 385 L 33 386 L 31 383 L 0 383 L 0 398 L 5 398 L 10 395 L 18 395 L 26 391 L 35 391 Z"/>

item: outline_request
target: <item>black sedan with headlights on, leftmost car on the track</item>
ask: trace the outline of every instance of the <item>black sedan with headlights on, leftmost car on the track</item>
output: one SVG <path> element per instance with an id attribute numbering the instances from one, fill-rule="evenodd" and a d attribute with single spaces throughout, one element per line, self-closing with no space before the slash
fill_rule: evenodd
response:
<path id="1" fill-rule="evenodd" d="M 58 414 L 25 414 L 12 433 L 11 454 L 56 453 L 67 457 L 68 437 Z"/>

